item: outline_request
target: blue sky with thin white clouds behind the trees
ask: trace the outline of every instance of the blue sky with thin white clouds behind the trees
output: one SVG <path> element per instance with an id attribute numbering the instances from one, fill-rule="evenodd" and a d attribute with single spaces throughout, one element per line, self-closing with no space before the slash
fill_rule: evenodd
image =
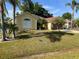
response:
<path id="1" fill-rule="evenodd" d="M 63 13 L 70 12 L 72 13 L 71 7 L 65 6 L 66 3 L 70 3 L 72 0 L 32 0 L 34 3 L 38 2 L 49 11 L 49 13 L 53 14 L 53 16 L 62 16 Z M 76 0 L 79 2 L 79 0 Z M 8 9 L 8 16 L 12 18 L 12 6 L 9 3 L 6 3 L 6 7 Z M 16 8 L 17 12 L 21 12 L 18 8 Z M 75 12 L 75 18 L 79 18 L 79 11 Z"/>

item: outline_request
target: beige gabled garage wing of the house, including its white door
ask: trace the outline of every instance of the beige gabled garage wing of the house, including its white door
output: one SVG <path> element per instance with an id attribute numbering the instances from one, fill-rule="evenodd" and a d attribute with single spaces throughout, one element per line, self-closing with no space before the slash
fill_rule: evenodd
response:
<path id="1" fill-rule="evenodd" d="M 16 16 L 16 25 L 19 31 L 24 30 L 37 30 L 37 20 L 42 17 L 25 12 L 21 15 Z"/>

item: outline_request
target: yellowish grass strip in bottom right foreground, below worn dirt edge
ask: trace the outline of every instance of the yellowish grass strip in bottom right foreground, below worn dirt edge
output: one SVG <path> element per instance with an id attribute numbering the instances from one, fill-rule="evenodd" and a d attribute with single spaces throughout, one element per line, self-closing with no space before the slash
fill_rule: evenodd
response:
<path id="1" fill-rule="evenodd" d="M 40 57 L 39 56 L 28 57 L 28 59 L 79 59 L 79 50 L 72 50 L 68 52 L 66 51 L 64 53 L 44 55 Z"/>

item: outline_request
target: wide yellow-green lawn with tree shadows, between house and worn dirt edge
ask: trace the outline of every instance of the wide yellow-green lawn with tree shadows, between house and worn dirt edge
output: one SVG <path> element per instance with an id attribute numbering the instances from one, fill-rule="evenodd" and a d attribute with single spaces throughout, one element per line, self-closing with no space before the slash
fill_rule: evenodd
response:
<path id="1" fill-rule="evenodd" d="M 38 32 L 27 35 L 25 33 L 18 36 L 15 41 L 0 43 L 0 59 L 19 59 L 20 57 L 34 54 L 55 52 L 76 47 L 79 47 L 79 34 Z"/>

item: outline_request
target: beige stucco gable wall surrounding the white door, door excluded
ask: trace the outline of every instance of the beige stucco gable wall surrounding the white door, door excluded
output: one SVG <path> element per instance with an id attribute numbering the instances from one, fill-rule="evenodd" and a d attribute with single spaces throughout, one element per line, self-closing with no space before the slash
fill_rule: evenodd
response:
<path id="1" fill-rule="evenodd" d="M 35 15 L 30 14 L 30 13 L 27 12 L 27 13 L 24 13 L 24 14 L 19 15 L 19 16 L 16 17 L 16 25 L 17 25 L 19 31 L 24 30 L 23 21 L 26 18 L 28 18 L 32 21 L 32 27 L 30 29 L 36 30 L 37 29 L 37 19 L 38 19 L 38 17 L 36 17 Z"/>

